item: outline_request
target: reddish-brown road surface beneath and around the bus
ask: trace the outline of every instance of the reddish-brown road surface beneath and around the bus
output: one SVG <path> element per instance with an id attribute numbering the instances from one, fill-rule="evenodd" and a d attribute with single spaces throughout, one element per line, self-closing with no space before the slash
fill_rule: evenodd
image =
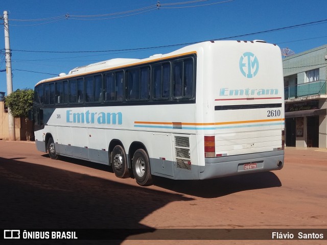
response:
<path id="1" fill-rule="evenodd" d="M 326 176 L 327 151 L 287 148 L 285 166 L 279 171 L 207 181 L 156 178 L 153 186 L 141 187 L 133 179 L 115 178 L 108 166 L 69 158 L 51 160 L 36 151 L 34 143 L 0 140 L 0 224 L 4 229 L 326 229 Z M 123 244 L 154 242 L 125 240 Z"/>

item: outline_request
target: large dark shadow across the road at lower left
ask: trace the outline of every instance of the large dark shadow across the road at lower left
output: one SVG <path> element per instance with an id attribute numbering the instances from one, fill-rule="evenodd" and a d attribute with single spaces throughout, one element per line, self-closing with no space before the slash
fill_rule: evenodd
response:
<path id="1" fill-rule="evenodd" d="M 0 158 L 0 186 L 3 229 L 132 228 L 142 233 L 151 227 L 139 222 L 150 213 L 170 202 L 192 200 L 4 158 Z"/>

